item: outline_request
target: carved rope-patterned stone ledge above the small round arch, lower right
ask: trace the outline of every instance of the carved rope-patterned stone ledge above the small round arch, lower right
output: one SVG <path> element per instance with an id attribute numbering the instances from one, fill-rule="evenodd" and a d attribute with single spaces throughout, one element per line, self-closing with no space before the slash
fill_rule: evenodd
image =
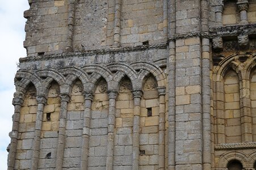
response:
<path id="1" fill-rule="evenodd" d="M 215 144 L 215 150 L 238 150 L 256 148 L 256 142 Z"/>

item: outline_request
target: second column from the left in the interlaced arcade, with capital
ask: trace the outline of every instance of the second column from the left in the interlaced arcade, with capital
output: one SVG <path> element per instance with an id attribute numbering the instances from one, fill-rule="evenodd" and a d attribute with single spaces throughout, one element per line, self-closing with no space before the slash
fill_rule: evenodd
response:
<path id="1" fill-rule="evenodd" d="M 39 159 L 39 150 L 40 150 L 40 140 L 41 140 L 41 127 L 43 122 L 43 110 L 44 104 L 47 102 L 45 96 L 37 96 L 37 112 L 36 112 L 36 125 L 35 125 L 35 133 L 33 138 L 32 145 L 32 164 L 31 169 L 37 169 L 37 163 Z"/>

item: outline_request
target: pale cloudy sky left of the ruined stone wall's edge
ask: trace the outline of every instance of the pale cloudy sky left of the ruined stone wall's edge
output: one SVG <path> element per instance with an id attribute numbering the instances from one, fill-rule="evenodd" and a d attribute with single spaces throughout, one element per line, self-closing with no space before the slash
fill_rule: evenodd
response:
<path id="1" fill-rule="evenodd" d="M 0 4 L 0 169 L 7 169 L 6 147 L 10 143 L 8 134 L 14 113 L 11 104 L 15 92 L 14 76 L 16 63 L 20 57 L 26 56 L 23 11 L 29 6 L 27 0 L 0 0 Z"/>

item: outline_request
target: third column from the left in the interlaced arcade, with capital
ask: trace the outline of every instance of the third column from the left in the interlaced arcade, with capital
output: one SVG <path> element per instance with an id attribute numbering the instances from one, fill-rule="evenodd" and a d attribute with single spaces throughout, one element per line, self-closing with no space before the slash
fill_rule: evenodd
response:
<path id="1" fill-rule="evenodd" d="M 58 147 L 57 147 L 57 160 L 56 169 L 62 169 L 63 156 L 64 156 L 64 146 L 66 137 L 66 109 L 68 107 L 68 102 L 70 96 L 68 94 L 61 94 L 61 110 L 60 110 L 60 125 L 58 129 Z"/>

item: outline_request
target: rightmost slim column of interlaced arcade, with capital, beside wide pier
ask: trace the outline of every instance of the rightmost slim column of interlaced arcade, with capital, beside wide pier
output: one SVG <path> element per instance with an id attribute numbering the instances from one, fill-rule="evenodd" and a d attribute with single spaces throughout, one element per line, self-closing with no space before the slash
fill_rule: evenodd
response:
<path id="1" fill-rule="evenodd" d="M 165 89 L 158 87 L 159 94 L 159 141 L 158 141 L 158 169 L 165 169 Z"/>

